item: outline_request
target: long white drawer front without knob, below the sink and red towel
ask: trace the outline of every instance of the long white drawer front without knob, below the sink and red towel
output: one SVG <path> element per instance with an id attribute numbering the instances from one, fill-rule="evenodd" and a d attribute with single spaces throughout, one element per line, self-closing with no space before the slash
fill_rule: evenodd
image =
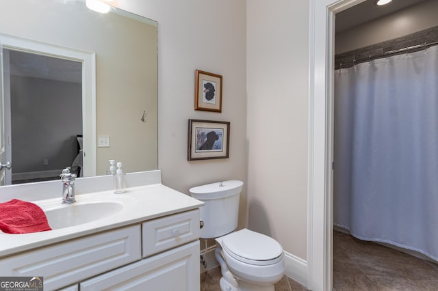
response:
<path id="1" fill-rule="evenodd" d="M 0 274 L 42 276 L 44 290 L 55 290 L 140 258 L 140 225 L 132 225 L 1 259 Z"/>

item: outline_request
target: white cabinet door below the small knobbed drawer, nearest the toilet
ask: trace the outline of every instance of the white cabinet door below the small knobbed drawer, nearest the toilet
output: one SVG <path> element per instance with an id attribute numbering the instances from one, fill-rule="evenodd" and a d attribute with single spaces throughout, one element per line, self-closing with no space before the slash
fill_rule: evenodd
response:
<path id="1" fill-rule="evenodd" d="M 80 283 L 81 291 L 195 291 L 199 282 L 199 241 L 171 249 Z"/>

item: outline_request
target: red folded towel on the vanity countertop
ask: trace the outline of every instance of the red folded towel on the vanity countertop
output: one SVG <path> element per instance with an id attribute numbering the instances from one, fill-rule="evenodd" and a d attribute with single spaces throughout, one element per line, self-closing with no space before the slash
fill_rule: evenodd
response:
<path id="1" fill-rule="evenodd" d="M 12 199 L 0 203 L 0 230 L 8 234 L 28 234 L 52 229 L 40 206 Z"/>

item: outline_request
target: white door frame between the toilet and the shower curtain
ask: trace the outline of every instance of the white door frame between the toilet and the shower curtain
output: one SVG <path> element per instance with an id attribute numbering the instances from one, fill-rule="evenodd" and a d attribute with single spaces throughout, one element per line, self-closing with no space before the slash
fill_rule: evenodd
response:
<path id="1" fill-rule="evenodd" d="M 365 0 L 309 3 L 307 288 L 333 288 L 333 94 L 335 14 Z"/>

